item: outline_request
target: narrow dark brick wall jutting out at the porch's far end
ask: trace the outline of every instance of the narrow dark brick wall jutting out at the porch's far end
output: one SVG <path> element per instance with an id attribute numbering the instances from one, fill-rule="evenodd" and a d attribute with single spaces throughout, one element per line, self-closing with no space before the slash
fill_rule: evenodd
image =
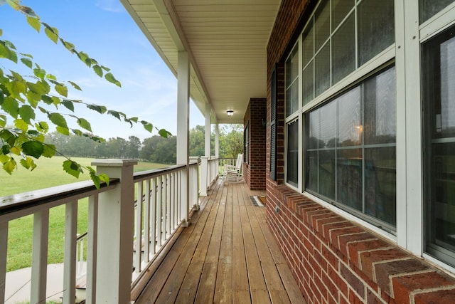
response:
<path id="1" fill-rule="evenodd" d="M 250 159 L 243 166 L 243 176 L 250 189 L 265 189 L 265 122 L 267 101 L 251 98 L 243 125 L 250 129 Z"/>

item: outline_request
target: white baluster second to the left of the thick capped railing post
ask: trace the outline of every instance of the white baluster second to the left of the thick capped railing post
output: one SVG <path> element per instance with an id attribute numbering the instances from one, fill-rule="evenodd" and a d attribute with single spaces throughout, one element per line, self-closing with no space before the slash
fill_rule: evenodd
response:
<path id="1" fill-rule="evenodd" d="M 73 304 L 76 296 L 77 201 L 65 204 L 65 254 L 63 258 L 63 303 Z"/>

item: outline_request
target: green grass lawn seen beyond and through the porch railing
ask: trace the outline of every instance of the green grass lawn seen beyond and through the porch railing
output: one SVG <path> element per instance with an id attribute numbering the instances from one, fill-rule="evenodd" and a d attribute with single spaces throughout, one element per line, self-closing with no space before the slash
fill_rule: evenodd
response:
<path id="1" fill-rule="evenodd" d="M 92 159 L 73 157 L 83 165 L 90 165 Z M 88 174 L 81 174 L 79 179 L 63 171 L 63 157 L 38 159 L 38 167 L 33 172 L 19 167 L 11 176 L 0 169 L 0 196 L 8 196 L 37 189 L 70 184 L 90 179 Z M 164 164 L 139 162 L 134 171 L 143 171 L 166 167 Z M 87 231 L 87 199 L 79 201 L 77 208 L 77 233 Z M 50 209 L 49 215 L 48 263 L 63 262 L 63 236 L 65 233 L 65 206 Z M 33 234 L 33 216 L 24 216 L 9 222 L 8 256 L 6 271 L 31 266 Z"/>

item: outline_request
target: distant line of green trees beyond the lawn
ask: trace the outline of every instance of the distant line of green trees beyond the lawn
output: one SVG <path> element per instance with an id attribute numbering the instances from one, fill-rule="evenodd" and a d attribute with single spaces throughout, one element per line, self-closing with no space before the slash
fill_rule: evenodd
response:
<path id="1" fill-rule="evenodd" d="M 221 158 L 236 158 L 243 152 L 243 126 L 223 125 L 219 132 Z M 205 127 L 196 125 L 190 130 L 190 155 L 205 154 Z M 95 142 L 90 137 L 62 135 L 58 132 L 49 133 L 46 143 L 55 145 L 56 150 L 68 157 L 141 159 L 146 162 L 160 164 L 176 164 L 177 137 L 161 137 L 154 135 L 144 140 L 129 136 L 112 137 L 102 142 Z M 211 154 L 215 154 L 215 134 L 211 133 Z"/>

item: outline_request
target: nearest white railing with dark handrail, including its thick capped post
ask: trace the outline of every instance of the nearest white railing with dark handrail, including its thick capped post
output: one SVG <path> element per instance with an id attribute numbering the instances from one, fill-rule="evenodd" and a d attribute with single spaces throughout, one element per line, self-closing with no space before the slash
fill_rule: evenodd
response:
<path id="1" fill-rule="evenodd" d="M 9 221 L 30 214 L 30 300 L 44 303 L 49 211 L 62 205 L 63 303 L 75 302 L 76 279 L 84 274 L 87 303 L 129 303 L 132 282 L 141 276 L 178 226 L 188 224 L 191 209 L 198 209 L 198 162 L 133 174 L 136 163 L 119 159 L 93 162 L 97 172 L 111 178 L 109 186 L 102 184 L 100 189 L 87 181 L 0 198 L 0 303 L 6 300 Z M 134 204 L 135 195 L 138 199 Z M 82 199 L 88 199 L 87 235 L 77 241 L 77 207 Z"/>

